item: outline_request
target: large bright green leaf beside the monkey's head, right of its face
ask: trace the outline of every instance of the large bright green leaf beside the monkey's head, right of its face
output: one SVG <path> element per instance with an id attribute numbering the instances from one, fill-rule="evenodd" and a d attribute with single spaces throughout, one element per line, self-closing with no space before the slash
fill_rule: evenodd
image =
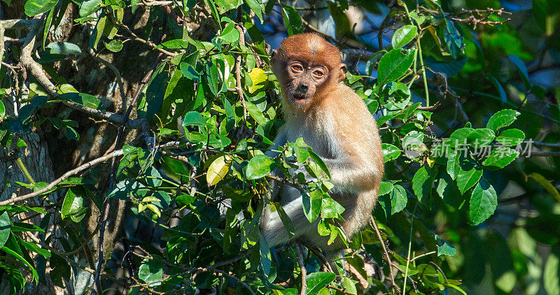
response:
<path id="1" fill-rule="evenodd" d="M 388 82 L 398 80 L 407 73 L 414 61 L 414 50 L 404 51 L 393 49 L 379 59 L 377 67 L 377 84 L 385 85 Z"/>

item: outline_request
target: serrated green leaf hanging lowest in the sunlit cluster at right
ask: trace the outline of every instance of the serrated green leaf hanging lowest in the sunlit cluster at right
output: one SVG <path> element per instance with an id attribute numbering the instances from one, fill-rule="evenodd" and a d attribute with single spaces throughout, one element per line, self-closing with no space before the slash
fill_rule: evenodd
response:
<path id="1" fill-rule="evenodd" d="M 496 190 L 485 180 L 480 180 L 470 196 L 470 223 L 477 225 L 484 222 L 494 213 L 496 206 L 498 206 Z"/>

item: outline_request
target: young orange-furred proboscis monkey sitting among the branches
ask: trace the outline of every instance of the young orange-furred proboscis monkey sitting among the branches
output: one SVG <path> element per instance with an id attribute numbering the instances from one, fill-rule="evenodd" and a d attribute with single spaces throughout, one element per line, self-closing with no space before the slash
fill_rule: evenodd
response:
<path id="1" fill-rule="evenodd" d="M 298 34 L 286 38 L 273 54 L 272 71 L 281 85 L 286 124 L 272 148 L 301 137 L 323 159 L 335 186 L 330 196 L 344 206 L 340 225 L 350 238 L 370 221 L 377 202 L 384 166 L 377 124 L 362 99 L 342 82 L 346 66 L 334 45 L 316 34 Z M 297 189 L 279 187 L 275 189 L 279 202 L 295 229 L 291 238 L 328 254 L 344 247 L 340 238 L 328 245 L 328 236 L 317 233 L 318 220 L 307 220 Z M 278 213 L 269 208 L 264 212 L 260 229 L 269 247 L 288 242 Z"/>

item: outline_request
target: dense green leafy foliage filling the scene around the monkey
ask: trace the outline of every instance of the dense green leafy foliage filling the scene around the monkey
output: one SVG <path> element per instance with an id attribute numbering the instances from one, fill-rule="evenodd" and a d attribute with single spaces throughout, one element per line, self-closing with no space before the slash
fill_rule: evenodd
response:
<path id="1" fill-rule="evenodd" d="M 48 73 L 60 60 L 76 59 L 90 49 L 118 53 L 132 42 L 164 58 L 141 89 L 134 106 L 137 119 L 127 122 L 125 113 L 124 120 L 103 117 L 139 129 L 136 140 L 114 152 L 118 161 L 110 174 L 94 167 L 50 187 L 29 178 L 15 185 L 42 198 L 61 192 L 64 199 L 49 206 L 28 206 L 25 200 L 0 203 L 0 268 L 13 292 L 26 279 L 44 282 L 46 261 L 50 278 L 60 287 L 71 272 L 89 268 L 76 262 L 95 255 L 90 247 L 97 247 L 83 231 L 84 217 L 92 210 L 104 212 L 107 200 L 117 199 L 127 203 L 127 217 L 157 231 L 151 240 L 140 240 L 134 228 L 125 228 L 130 253 L 116 264 L 127 272 L 117 274 L 104 264 L 104 288 L 123 287 L 133 294 L 193 294 L 196 289 L 297 294 L 304 266 L 307 294 L 398 289 L 406 294 L 510 294 L 514 289 L 559 294 L 559 154 L 533 151 L 528 141 L 540 140 L 533 149 L 558 147 L 559 89 L 538 85 L 525 65 L 536 50 L 559 60 L 554 41 L 560 10 L 553 1 L 533 1 L 530 24 L 519 30 L 505 22 L 498 1 L 469 1 L 473 10 L 467 14 L 474 20 L 449 3 L 432 0 L 396 1 L 390 11 L 383 1 L 333 1 L 323 8 L 336 24 L 336 45 L 370 52 L 367 63 L 356 63 L 359 71 L 350 71 L 345 82 L 363 98 L 381 129 L 386 172 L 372 216 L 383 240 L 372 226 L 353 237 L 337 227 L 344 208 L 330 199 L 328 169 L 302 140 L 278 147 L 276 157 L 265 155 L 282 119 L 262 23 L 276 17 L 286 24 L 287 34 L 297 34 L 309 28 L 303 10 L 255 0 L 69 2 L 25 3 L 29 17 L 42 14 L 38 20 L 44 28 L 37 34 L 43 43 L 64 15 L 61 6 L 78 5 L 75 24 L 93 28 L 89 48 L 69 42 L 38 46 L 38 61 Z M 349 5 L 394 22 L 392 38 L 379 48 L 356 34 L 344 14 Z M 172 21 L 160 43 L 151 41 L 153 28 L 132 35 L 125 24 L 130 15 L 150 10 L 153 22 L 170 15 L 163 7 L 183 18 L 202 7 L 213 20 L 215 36 L 195 40 L 186 26 Z M 474 10 L 487 7 L 496 10 Z M 537 38 L 545 49 L 535 45 Z M 6 151 L 24 148 L 20 135 L 45 125 L 58 129 L 64 141 L 80 141 L 78 122 L 44 111 L 60 103 L 90 117 L 107 111 L 98 97 L 51 75 L 53 92 L 34 77 L 18 115 L 8 115 L 10 69 L 2 66 L 1 71 L 6 97 L 0 101 L 0 143 Z M 141 122 L 149 126 L 139 127 Z M 297 164 L 317 180 L 307 182 L 303 173 L 293 173 Z M 293 232 L 278 200 L 269 198 L 269 173 L 275 168 L 302 192 L 307 219 L 321 219 L 318 232 L 329 236 L 329 243 L 340 238 L 348 245 L 344 275 L 330 272 L 314 250 L 304 249 L 300 265 L 296 243 L 269 249 L 258 226 L 265 204 L 278 210 Z M 512 206 L 517 201 L 521 206 Z M 30 212 L 41 216 L 41 224 L 18 217 Z M 56 237 L 62 245 L 58 249 L 49 234 L 51 222 L 63 232 Z M 537 245 L 547 245 L 546 254 Z M 373 274 L 373 263 L 382 274 Z"/>

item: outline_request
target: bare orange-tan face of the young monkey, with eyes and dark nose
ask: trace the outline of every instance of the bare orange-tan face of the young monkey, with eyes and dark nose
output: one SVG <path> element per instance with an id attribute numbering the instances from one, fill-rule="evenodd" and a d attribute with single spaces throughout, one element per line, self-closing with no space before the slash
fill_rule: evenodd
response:
<path id="1" fill-rule="evenodd" d="M 284 94 L 295 106 L 307 106 L 328 80 L 328 67 L 321 64 L 290 60 L 286 63 Z"/>

